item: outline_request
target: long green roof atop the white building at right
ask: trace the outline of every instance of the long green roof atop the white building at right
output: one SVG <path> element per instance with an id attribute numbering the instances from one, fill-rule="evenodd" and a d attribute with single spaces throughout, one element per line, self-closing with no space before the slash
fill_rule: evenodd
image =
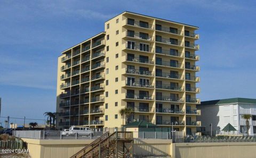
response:
<path id="1" fill-rule="evenodd" d="M 230 104 L 230 103 L 256 104 L 256 99 L 250 99 L 250 98 L 219 99 L 219 100 L 201 102 L 200 105 L 220 105 L 220 104 Z"/>

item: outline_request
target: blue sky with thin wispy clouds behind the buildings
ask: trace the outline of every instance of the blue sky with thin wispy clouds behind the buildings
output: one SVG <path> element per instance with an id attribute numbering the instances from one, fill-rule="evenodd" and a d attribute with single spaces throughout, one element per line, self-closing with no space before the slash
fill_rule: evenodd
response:
<path id="1" fill-rule="evenodd" d="M 44 119 L 45 111 L 55 111 L 60 52 L 123 11 L 200 28 L 201 101 L 256 98 L 255 8 L 254 1 L 221 0 L 1 1 L 1 116 Z"/>

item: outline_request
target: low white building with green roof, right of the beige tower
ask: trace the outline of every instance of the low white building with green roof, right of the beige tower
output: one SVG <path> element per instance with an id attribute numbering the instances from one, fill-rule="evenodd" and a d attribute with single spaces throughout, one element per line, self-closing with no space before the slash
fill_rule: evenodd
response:
<path id="1" fill-rule="evenodd" d="M 230 98 L 213 101 L 201 102 L 197 106 L 201 110 L 201 116 L 198 120 L 202 121 L 202 130 L 210 133 L 212 131 L 221 131 L 228 123 L 236 128 L 238 133 L 247 134 L 246 120 L 242 118 L 243 114 L 250 114 L 249 135 L 256 135 L 256 99 L 249 98 Z"/>

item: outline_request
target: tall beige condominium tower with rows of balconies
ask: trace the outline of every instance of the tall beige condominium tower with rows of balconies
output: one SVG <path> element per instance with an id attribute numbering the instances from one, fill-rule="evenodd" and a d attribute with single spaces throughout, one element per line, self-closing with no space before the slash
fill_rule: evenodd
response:
<path id="1" fill-rule="evenodd" d="M 201 122 L 196 105 L 198 27 L 132 12 L 105 22 L 105 32 L 58 59 L 58 128 L 122 127 L 146 120 L 187 134 Z"/>

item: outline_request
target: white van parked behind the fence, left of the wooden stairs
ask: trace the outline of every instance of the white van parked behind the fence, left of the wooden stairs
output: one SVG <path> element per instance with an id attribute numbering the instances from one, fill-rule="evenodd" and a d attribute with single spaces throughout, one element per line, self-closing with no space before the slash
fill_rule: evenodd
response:
<path id="1" fill-rule="evenodd" d="M 89 127 L 71 126 L 69 129 L 64 129 L 61 132 L 61 135 L 66 135 L 66 136 L 69 136 L 69 135 L 72 135 L 72 134 L 93 136 L 93 131 Z"/>

